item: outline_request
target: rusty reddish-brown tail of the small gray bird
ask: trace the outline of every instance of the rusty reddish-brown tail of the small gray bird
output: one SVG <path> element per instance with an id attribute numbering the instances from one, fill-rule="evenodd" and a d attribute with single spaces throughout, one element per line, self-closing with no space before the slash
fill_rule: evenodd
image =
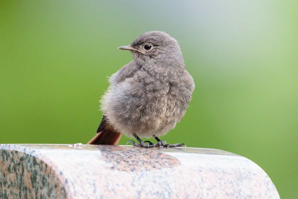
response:
<path id="1" fill-rule="evenodd" d="M 105 128 L 97 133 L 87 144 L 117 145 L 122 134 L 114 129 Z"/>

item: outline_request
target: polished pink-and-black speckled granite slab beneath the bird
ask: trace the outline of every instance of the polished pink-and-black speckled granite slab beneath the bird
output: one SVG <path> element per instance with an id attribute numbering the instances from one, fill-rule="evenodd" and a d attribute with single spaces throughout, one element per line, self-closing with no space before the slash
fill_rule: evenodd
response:
<path id="1" fill-rule="evenodd" d="M 268 175 L 216 149 L 0 144 L 0 198 L 280 198 Z"/>

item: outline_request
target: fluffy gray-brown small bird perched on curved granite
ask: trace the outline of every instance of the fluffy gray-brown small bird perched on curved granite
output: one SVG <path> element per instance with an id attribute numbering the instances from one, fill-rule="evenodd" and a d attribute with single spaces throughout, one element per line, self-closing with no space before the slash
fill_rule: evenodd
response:
<path id="1" fill-rule="evenodd" d="M 109 78 L 110 87 L 101 100 L 103 119 L 88 144 L 117 144 L 125 134 L 139 141 L 128 142 L 134 146 L 185 145 L 169 145 L 157 137 L 181 120 L 195 88 L 177 41 L 167 33 L 150 31 L 119 49 L 130 50 L 134 60 Z M 156 144 L 139 138 L 151 136 Z"/>

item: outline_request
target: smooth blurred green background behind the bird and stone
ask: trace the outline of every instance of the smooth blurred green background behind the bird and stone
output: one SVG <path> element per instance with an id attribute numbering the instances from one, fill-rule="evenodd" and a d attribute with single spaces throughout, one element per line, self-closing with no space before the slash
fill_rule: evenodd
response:
<path id="1" fill-rule="evenodd" d="M 195 91 L 162 139 L 257 163 L 298 197 L 298 1 L 0 1 L 0 143 L 86 144 L 130 44 L 176 38 Z M 119 144 L 130 138 L 122 137 Z"/>

